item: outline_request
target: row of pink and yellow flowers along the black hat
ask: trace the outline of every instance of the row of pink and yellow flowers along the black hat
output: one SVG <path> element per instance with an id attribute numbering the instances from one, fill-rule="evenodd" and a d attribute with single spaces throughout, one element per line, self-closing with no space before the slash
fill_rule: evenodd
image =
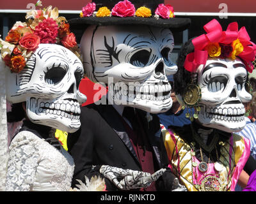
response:
<path id="1" fill-rule="evenodd" d="M 152 12 L 149 8 L 145 6 L 141 6 L 137 10 L 135 10 L 134 4 L 132 4 L 128 0 L 120 1 L 112 8 L 110 11 L 106 6 L 100 7 L 98 11 L 96 10 L 95 3 L 88 3 L 83 7 L 82 12 L 80 13 L 80 17 L 144 17 L 148 18 L 152 16 Z M 173 14 L 173 7 L 169 4 L 159 4 L 155 11 L 155 18 L 173 18 L 175 15 Z"/>

